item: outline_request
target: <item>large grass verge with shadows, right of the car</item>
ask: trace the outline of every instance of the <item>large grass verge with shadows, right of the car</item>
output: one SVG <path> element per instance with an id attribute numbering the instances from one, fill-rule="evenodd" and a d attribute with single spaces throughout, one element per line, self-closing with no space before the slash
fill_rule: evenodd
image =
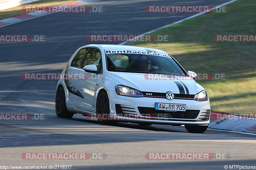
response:
<path id="1" fill-rule="evenodd" d="M 256 1 L 239 0 L 227 6 L 228 12 L 207 13 L 150 33 L 168 35 L 168 42 L 130 45 L 162 49 L 187 71 L 225 73 L 225 80 L 197 81 L 210 97 L 212 112 L 256 113 L 256 42 L 212 40 L 213 35 L 255 35 Z"/>

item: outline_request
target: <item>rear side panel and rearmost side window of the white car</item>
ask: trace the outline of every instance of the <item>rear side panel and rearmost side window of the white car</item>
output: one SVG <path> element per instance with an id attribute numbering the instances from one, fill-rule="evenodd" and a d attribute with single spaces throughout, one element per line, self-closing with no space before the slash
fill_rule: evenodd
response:
<path id="1" fill-rule="evenodd" d="M 82 69 L 82 63 L 85 59 L 85 56 L 88 52 L 89 48 L 83 48 L 80 49 L 78 51 L 78 53 L 76 54 L 76 56 L 74 57 L 74 59 L 72 60 L 70 66 L 66 69 L 65 71 L 65 83 L 67 85 L 68 88 L 68 99 L 69 100 L 75 100 L 76 96 L 78 97 L 82 97 L 82 93 L 81 91 L 79 91 L 76 87 L 76 85 L 74 85 L 74 78 L 75 78 L 75 74 L 77 74 L 78 72 L 80 72 L 80 70 Z M 73 107 L 74 107 L 74 102 L 73 102 Z"/>

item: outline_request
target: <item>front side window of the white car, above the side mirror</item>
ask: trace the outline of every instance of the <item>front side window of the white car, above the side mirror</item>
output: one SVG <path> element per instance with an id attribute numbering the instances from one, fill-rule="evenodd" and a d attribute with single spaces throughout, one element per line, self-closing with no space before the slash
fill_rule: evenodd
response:
<path id="1" fill-rule="evenodd" d="M 90 51 L 85 57 L 83 67 L 86 65 L 94 64 L 97 66 L 100 73 L 102 73 L 102 61 L 100 50 L 97 48 L 90 48 Z"/>

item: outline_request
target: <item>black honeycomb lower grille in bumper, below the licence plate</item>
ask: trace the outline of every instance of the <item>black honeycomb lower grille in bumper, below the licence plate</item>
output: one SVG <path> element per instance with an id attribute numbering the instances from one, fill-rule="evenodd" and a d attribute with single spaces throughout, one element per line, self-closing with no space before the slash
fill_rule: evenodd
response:
<path id="1" fill-rule="evenodd" d="M 200 110 L 186 110 L 185 112 L 169 112 L 164 110 L 155 110 L 154 107 L 138 107 L 140 114 L 151 114 L 157 119 L 196 119 Z"/>

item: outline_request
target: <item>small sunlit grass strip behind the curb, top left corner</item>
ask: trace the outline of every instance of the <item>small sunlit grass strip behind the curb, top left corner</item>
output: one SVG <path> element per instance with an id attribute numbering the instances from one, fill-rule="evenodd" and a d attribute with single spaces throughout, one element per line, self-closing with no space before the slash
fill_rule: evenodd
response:
<path id="1" fill-rule="evenodd" d="M 9 9 L 0 11 L 0 20 L 25 14 L 25 12 L 21 11 L 22 6 L 30 6 L 30 5 L 33 5 L 33 6 L 56 6 L 56 5 L 66 4 L 66 3 L 72 2 L 72 1 L 74 1 L 74 0 L 41 0 L 41 1 L 36 1 L 33 3 L 29 3 L 29 4 L 16 6 L 13 8 L 9 8 Z"/>

